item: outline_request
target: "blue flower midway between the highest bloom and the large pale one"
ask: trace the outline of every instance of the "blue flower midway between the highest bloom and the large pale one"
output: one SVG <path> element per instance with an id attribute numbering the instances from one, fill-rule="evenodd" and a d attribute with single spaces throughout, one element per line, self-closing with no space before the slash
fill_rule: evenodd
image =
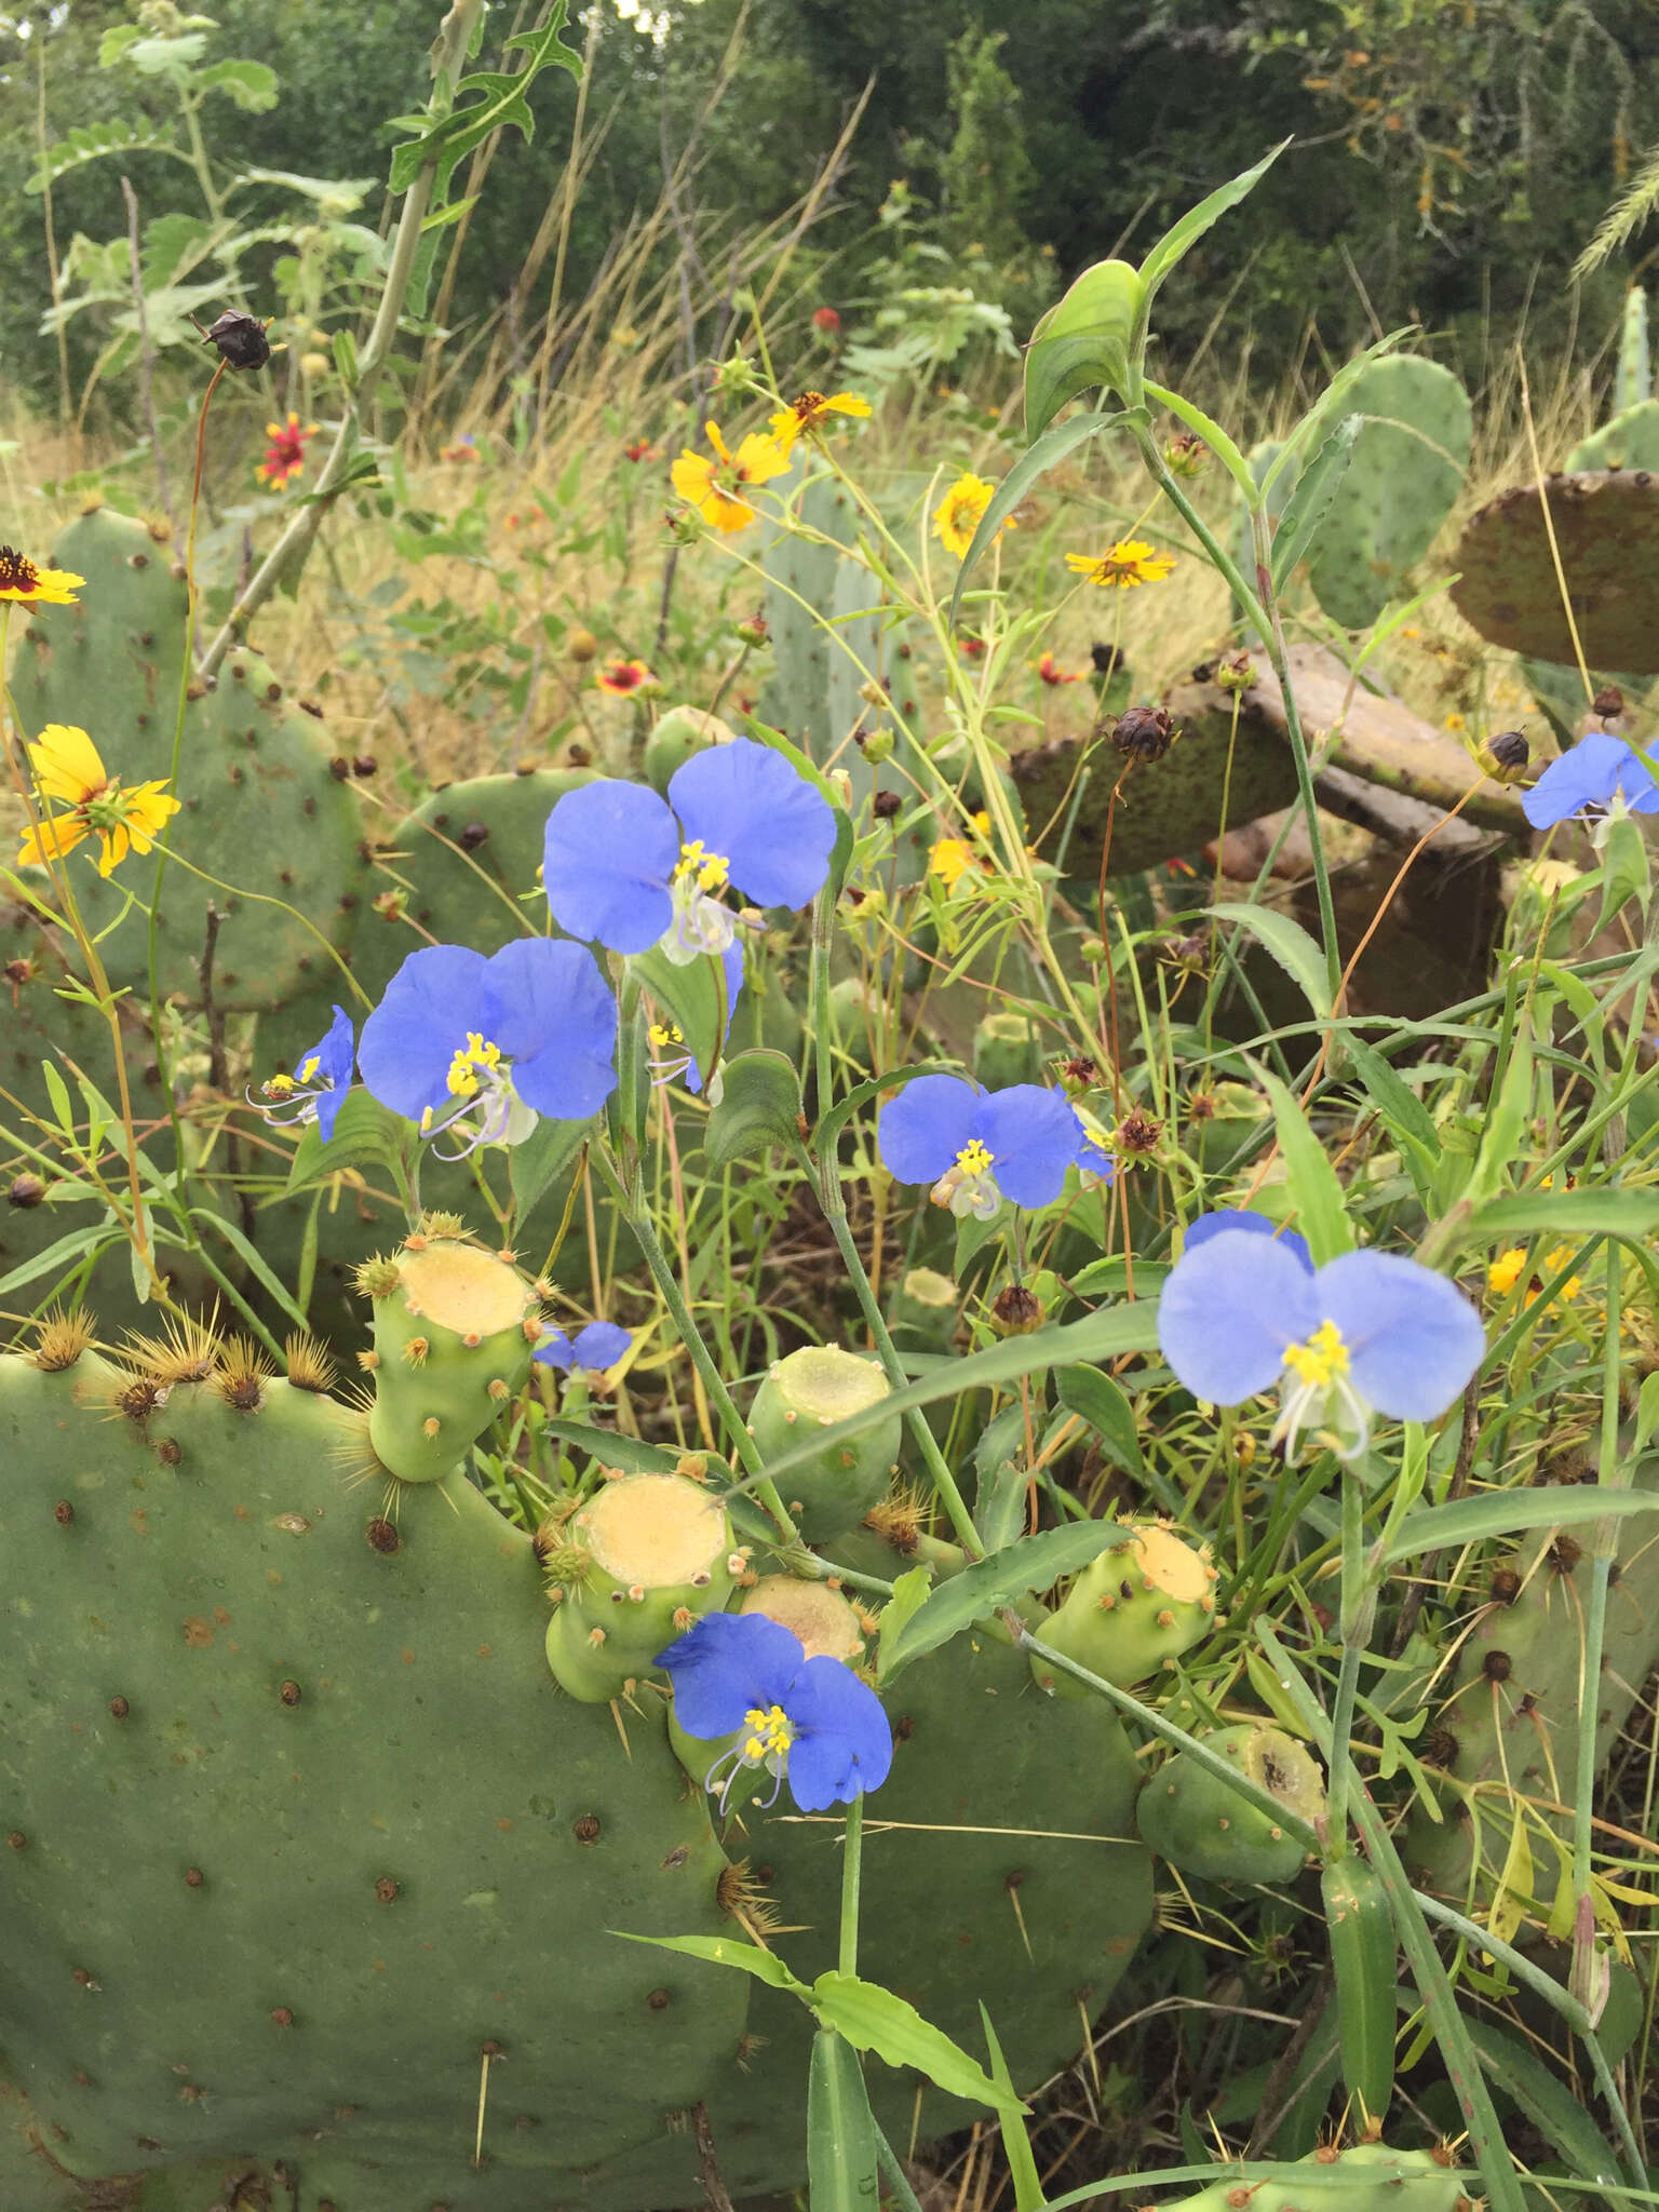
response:
<path id="1" fill-rule="evenodd" d="M 1046 1206 L 1066 1188 L 1066 1168 L 1102 1175 L 1106 1159 L 1060 1091 L 1042 1084 L 980 1091 L 960 1075 L 920 1075 L 907 1084 L 883 1106 L 878 1141 L 900 1183 L 931 1183 L 933 1203 L 949 1206 L 958 1221 L 969 1214 L 989 1221 L 1004 1197 Z"/>

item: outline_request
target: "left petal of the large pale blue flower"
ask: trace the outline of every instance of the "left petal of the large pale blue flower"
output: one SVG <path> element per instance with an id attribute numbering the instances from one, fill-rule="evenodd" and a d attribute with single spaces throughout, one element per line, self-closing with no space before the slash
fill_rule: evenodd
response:
<path id="1" fill-rule="evenodd" d="M 1157 1340 L 1194 1398 L 1241 1405 L 1267 1389 L 1285 1345 L 1318 1327 L 1314 1279 L 1272 1237 L 1221 1230 L 1186 1250 L 1164 1283 Z"/>

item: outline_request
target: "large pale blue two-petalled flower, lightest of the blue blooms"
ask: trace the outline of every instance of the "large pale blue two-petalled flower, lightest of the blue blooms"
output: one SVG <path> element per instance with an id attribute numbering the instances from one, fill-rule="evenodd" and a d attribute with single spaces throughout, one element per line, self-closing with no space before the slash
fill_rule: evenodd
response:
<path id="1" fill-rule="evenodd" d="M 1323 1267 L 1283 1237 L 1223 1228 L 1181 1254 L 1157 1310 L 1164 1358 L 1194 1398 L 1241 1405 L 1274 1380 L 1274 1442 L 1294 1453 L 1314 1420 L 1345 1455 L 1365 1449 L 1371 1409 L 1433 1420 L 1480 1367 L 1486 1332 L 1464 1294 L 1391 1252 L 1343 1252 Z"/>

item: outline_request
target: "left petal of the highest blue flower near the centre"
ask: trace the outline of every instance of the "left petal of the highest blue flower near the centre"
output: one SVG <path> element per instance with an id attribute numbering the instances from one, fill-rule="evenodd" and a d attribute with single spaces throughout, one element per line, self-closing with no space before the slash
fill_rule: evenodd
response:
<path id="1" fill-rule="evenodd" d="M 584 783 L 546 818 L 542 885 L 553 920 L 613 953 L 641 953 L 675 918 L 679 830 L 641 783 Z"/>

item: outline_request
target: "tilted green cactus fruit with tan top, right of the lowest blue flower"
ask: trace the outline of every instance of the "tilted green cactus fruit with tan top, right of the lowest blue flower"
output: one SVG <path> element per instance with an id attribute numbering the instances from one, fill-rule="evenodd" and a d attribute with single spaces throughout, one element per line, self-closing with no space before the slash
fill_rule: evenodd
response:
<path id="1" fill-rule="evenodd" d="M 1124 1522 L 1121 1540 L 1077 1575 L 1037 1635 L 1091 1674 L 1133 1690 L 1210 1635 L 1214 1584 L 1208 1546 L 1194 1551 L 1164 1522 Z M 1095 1694 L 1046 1659 L 1033 1657 L 1031 1668 L 1055 1697 Z"/>

